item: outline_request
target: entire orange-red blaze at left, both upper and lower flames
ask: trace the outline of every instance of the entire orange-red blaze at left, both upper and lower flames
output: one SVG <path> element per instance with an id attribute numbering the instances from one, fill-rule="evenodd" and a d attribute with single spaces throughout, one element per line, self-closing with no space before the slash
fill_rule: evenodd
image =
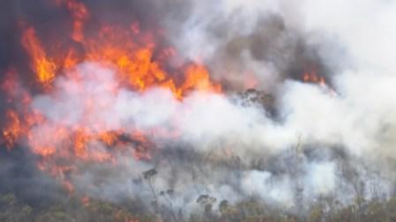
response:
<path id="1" fill-rule="evenodd" d="M 45 41 L 40 40 L 33 26 L 23 30 L 21 44 L 30 57 L 36 83 L 44 93 L 52 92 L 51 86 L 59 75 L 81 82 L 82 75 L 74 67 L 84 61 L 116 71 L 117 83 L 104 87 L 110 94 L 118 93 L 120 87 L 137 92 L 162 87 L 170 90 L 178 100 L 183 100 L 193 90 L 221 93 L 221 85 L 213 83 L 203 64 L 188 62 L 178 67 L 169 66 L 169 60 L 177 52 L 172 47 L 157 44 L 163 30 L 141 30 L 136 22 L 131 22 L 128 28 L 103 24 L 96 35 L 86 36 L 84 29 L 90 17 L 86 6 L 78 0 L 55 0 L 55 4 L 69 11 L 72 21 L 69 38 L 82 50 L 72 44 L 60 48 L 64 42 L 43 44 Z M 32 108 L 30 94 L 20 92 L 14 85 L 13 81 L 6 81 L 3 87 L 10 101 L 22 104 L 6 113 L 7 122 L 2 130 L 6 146 L 12 149 L 18 141 L 27 141 L 31 151 L 40 157 L 38 168 L 59 179 L 70 192 L 74 187 L 67 175 L 78 171 L 79 162 L 117 164 L 117 155 L 150 160 L 152 150 L 156 149 L 147 132 L 108 130 L 101 120 L 90 122 L 94 109 L 111 107 L 108 102 L 88 98 L 82 107 L 83 120 L 70 126 L 46 119 Z M 160 127 L 152 132 L 164 137 L 178 136 L 178 132 Z"/>

